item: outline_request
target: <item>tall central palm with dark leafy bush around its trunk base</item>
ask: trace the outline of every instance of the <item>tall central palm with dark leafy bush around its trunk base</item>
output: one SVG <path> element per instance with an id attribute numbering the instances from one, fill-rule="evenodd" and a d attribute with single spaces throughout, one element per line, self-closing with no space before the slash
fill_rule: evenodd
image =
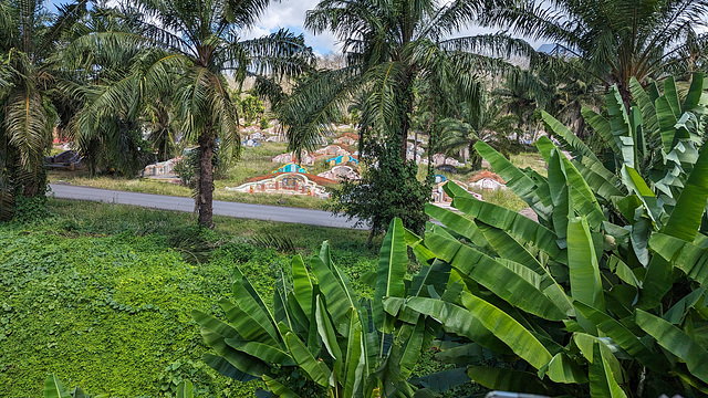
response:
<path id="1" fill-rule="evenodd" d="M 311 149 L 323 135 L 331 133 L 331 123 L 342 118 L 352 98 L 363 97 L 358 123 L 362 155 L 371 157 L 372 164 L 376 160 L 379 166 L 388 167 L 391 165 L 382 163 L 393 159 L 378 158 L 374 154 L 396 153 L 398 159 L 395 161 L 400 166 L 391 168 L 394 170 L 391 178 L 398 178 L 400 187 L 420 186 L 416 180 L 417 168 L 404 170 L 415 104 L 426 104 L 431 119 L 439 119 L 457 106 L 448 101 L 452 93 L 461 93 L 470 104 L 479 100 L 482 71 L 508 66 L 500 57 L 531 55 L 532 64 L 538 61 L 525 42 L 503 34 L 451 38 L 483 12 L 483 3 L 466 0 L 448 3 L 435 0 L 321 1 L 308 12 L 305 27 L 314 33 L 333 32 L 343 45 L 346 65 L 309 75 L 279 106 L 279 118 L 289 126 L 291 149 Z M 386 146 L 386 149 L 375 146 Z M 393 147 L 396 150 L 392 150 Z M 404 180 L 402 176 L 408 176 L 410 180 Z M 378 197 L 385 193 L 383 188 L 377 191 L 375 181 L 367 180 L 366 176 L 363 185 L 369 185 L 369 191 L 378 192 Z M 421 213 L 429 195 L 419 191 L 428 189 L 412 189 L 413 197 L 402 198 L 399 202 L 408 206 L 423 198 L 415 210 Z M 353 197 L 347 195 L 344 199 Z M 407 210 L 402 214 L 404 223 L 417 229 L 418 226 L 408 222 L 406 214 L 409 213 Z M 371 220 L 369 224 L 385 228 L 389 221 Z"/>

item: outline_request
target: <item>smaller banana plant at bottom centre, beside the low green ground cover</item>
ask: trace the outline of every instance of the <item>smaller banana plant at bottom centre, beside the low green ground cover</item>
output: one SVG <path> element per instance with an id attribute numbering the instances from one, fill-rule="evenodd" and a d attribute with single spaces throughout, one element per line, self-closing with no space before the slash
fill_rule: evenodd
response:
<path id="1" fill-rule="evenodd" d="M 223 320 L 192 312 L 214 349 L 205 362 L 240 381 L 260 378 L 279 397 L 412 397 L 450 387 L 451 379 L 470 381 L 465 368 L 452 378 L 450 371 L 414 377 L 439 325 L 419 313 L 404 311 L 402 322 L 391 308 L 384 311 L 384 297 L 445 295 L 450 272 L 445 263 L 433 261 L 406 280 L 410 239 L 399 219 L 392 221 L 373 301 L 353 291 L 332 262 L 327 242 L 308 263 L 293 258 L 275 286 L 272 310 L 237 269 L 233 302 L 219 301 Z"/>

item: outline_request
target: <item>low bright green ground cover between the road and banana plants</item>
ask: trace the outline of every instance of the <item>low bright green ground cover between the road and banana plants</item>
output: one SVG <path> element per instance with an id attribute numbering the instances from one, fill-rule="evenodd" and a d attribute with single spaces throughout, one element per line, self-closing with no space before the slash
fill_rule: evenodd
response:
<path id="1" fill-rule="evenodd" d="M 50 200 L 43 222 L 0 224 L 0 390 L 41 396 L 46 374 L 112 397 L 173 397 L 188 378 L 200 397 L 249 397 L 240 384 L 201 362 L 208 350 L 189 313 L 219 313 L 235 266 L 264 298 L 291 254 L 256 247 L 249 237 L 292 240 L 314 253 L 330 240 L 334 261 L 354 287 L 377 253 L 363 231 L 216 217 L 216 231 L 195 234 L 189 214 L 127 206 Z M 189 239 L 220 245 L 189 263 Z M 374 248 L 377 248 L 377 241 Z"/>

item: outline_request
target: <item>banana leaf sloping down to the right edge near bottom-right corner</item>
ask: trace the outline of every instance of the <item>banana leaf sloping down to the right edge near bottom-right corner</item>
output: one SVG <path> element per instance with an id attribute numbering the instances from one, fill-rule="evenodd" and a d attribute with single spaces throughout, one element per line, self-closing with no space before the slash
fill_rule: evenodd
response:
<path id="1" fill-rule="evenodd" d="M 678 327 L 642 310 L 636 311 L 636 323 L 669 353 L 688 366 L 691 375 L 708 383 L 708 352 Z"/>

